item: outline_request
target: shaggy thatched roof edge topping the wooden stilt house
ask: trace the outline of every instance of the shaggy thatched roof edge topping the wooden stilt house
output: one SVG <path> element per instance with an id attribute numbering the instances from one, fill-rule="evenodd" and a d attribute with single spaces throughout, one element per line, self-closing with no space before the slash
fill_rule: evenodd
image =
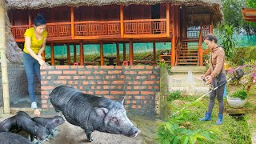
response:
<path id="1" fill-rule="evenodd" d="M 214 14 L 214 25 L 222 21 L 222 4 L 220 0 L 6 0 L 7 9 L 41 9 L 56 6 L 104 6 L 104 5 L 154 5 L 170 3 L 178 6 L 204 6 L 209 13 Z M 190 16 L 191 17 L 191 16 Z M 194 16 L 193 16 L 194 17 Z M 198 17 L 202 17 L 198 16 Z M 192 18 L 192 20 L 198 18 Z M 200 19 L 200 18 L 199 18 Z M 210 18 L 203 18 L 204 21 Z M 196 24 L 192 22 L 191 24 Z"/>

